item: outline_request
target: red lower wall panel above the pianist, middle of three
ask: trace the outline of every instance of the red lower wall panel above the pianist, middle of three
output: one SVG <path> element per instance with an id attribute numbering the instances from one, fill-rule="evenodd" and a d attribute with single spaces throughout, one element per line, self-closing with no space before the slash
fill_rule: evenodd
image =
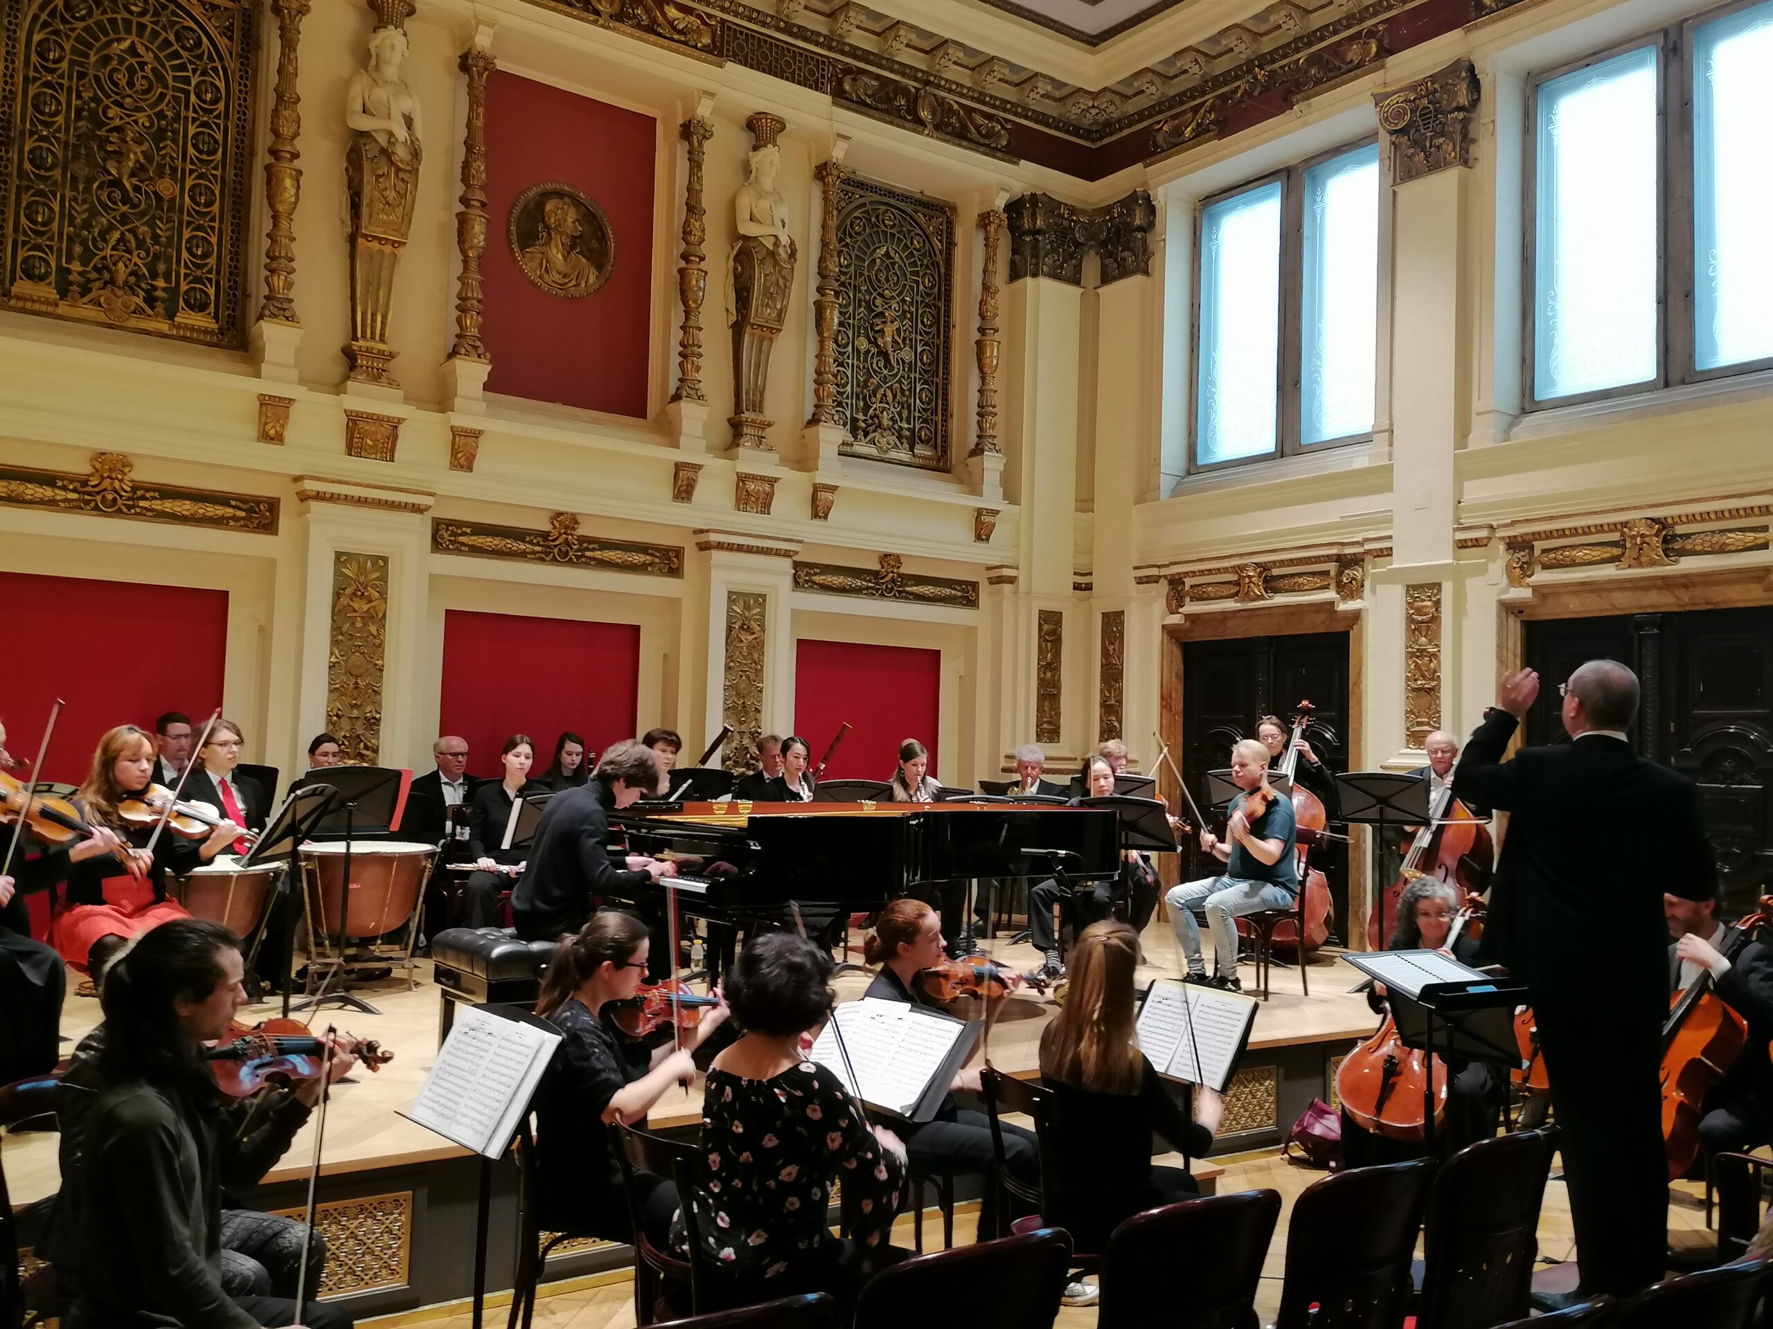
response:
<path id="1" fill-rule="evenodd" d="M 519 613 L 443 613 L 440 734 L 468 739 L 468 771 L 500 774 L 512 734 L 535 739 L 535 774 L 560 730 L 601 753 L 637 735 L 640 629 Z"/>

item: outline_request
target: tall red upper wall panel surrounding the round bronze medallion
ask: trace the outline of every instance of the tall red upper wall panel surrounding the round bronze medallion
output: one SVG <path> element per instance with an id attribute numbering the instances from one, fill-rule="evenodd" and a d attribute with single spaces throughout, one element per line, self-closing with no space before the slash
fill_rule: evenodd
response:
<path id="1" fill-rule="evenodd" d="M 486 83 L 489 392 L 645 418 L 652 328 L 652 168 L 658 124 L 590 97 L 495 73 Z M 511 204 L 560 181 L 610 220 L 615 266 L 582 299 L 535 289 L 507 239 Z"/>

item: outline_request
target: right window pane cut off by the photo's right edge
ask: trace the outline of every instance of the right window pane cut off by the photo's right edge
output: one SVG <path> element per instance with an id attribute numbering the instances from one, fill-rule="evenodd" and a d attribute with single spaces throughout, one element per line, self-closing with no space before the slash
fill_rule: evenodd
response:
<path id="1" fill-rule="evenodd" d="M 1773 356 L 1773 170 L 1766 89 L 1773 5 L 1693 34 L 1693 356 L 1699 369 Z"/>

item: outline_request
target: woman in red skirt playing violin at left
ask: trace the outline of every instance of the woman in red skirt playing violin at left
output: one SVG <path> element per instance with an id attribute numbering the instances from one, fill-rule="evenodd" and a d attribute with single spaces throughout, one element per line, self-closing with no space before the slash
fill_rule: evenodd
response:
<path id="1" fill-rule="evenodd" d="M 184 905 L 167 898 L 167 874 L 183 875 L 207 863 L 241 833 L 230 820 L 204 840 L 184 840 L 167 829 L 149 854 L 152 826 L 131 826 L 117 813 L 117 804 L 144 792 L 152 778 L 152 737 L 135 725 L 119 725 L 99 739 L 92 773 L 74 794 L 74 803 L 92 826 L 115 831 L 124 849 L 78 863 L 57 856 L 66 865 L 66 877 L 51 939 L 69 964 L 85 968 L 87 952 L 99 937 L 133 937 L 168 918 L 190 918 Z"/>

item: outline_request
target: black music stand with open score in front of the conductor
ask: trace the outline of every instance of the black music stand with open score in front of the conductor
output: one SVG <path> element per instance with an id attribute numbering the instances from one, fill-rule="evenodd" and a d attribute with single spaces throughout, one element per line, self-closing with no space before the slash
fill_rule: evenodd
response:
<path id="1" fill-rule="evenodd" d="M 1390 773 L 1386 773 L 1390 774 Z M 1425 783 L 1425 781 L 1424 781 Z M 1411 991 L 1392 973 L 1397 964 L 1420 957 L 1447 976 Z M 1427 1053 L 1429 1074 L 1422 1081 L 1422 1146 L 1434 1157 L 1434 1058 L 1443 1061 L 1488 1061 L 1523 1070 L 1521 1049 L 1514 1037 L 1514 1008 L 1530 1001 L 1527 983 L 1496 978 L 1449 960 L 1434 950 L 1388 950 L 1344 955 L 1349 964 L 1374 982 L 1385 983 L 1385 1001 L 1392 1008 L 1397 1037 L 1404 1047 Z M 1454 975 L 1463 969 L 1464 975 Z M 1452 1069 L 1447 1069 L 1450 1079 Z M 1452 1084 L 1449 1083 L 1449 1093 Z"/>

